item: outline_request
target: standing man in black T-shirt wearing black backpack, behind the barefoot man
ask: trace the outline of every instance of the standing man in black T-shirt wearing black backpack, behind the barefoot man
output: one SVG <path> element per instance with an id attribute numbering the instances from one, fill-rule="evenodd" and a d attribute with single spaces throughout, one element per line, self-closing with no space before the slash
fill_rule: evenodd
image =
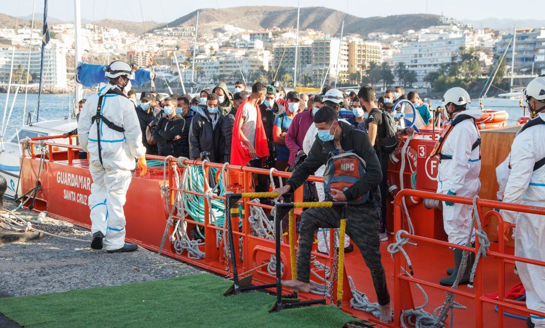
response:
<path id="1" fill-rule="evenodd" d="M 381 110 L 375 101 L 375 91 L 372 87 L 363 87 L 358 92 L 360 104 L 369 113 L 365 121 L 365 128 L 369 135 L 371 145 L 375 149 L 382 170 L 382 180 L 380 181 L 380 241 L 388 241 L 386 234 L 386 198 L 387 184 L 386 171 L 388 169 L 388 155 L 396 149 L 397 131 L 393 125 L 393 118 L 389 113 Z"/>

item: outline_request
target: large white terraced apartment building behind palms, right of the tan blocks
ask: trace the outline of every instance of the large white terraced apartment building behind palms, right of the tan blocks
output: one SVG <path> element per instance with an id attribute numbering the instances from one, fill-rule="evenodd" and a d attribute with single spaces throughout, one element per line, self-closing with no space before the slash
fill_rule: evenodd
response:
<path id="1" fill-rule="evenodd" d="M 437 39 L 429 41 L 408 42 L 393 53 L 392 65 L 403 62 L 407 68 L 416 71 L 417 84 L 422 85 L 423 79 L 429 72 L 435 71 L 442 63 L 450 62 L 451 56 L 456 54 L 460 47 L 475 45 L 473 36 L 463 35 L 457 38 Z"/>

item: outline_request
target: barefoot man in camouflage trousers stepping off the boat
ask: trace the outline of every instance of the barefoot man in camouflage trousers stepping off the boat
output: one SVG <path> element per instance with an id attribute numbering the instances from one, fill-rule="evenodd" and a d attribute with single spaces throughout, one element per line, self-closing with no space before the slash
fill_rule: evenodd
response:
<path id="1" fill-rule="evenodd" d="M 359 180 L 356 183 L 348 183 L 339 188 L 342 190 L 335 189 L 335 186 L 331 184 L 326 199 L 335 202 L 348 202 L 346 233 L 360 249 L 365 263 L 371 271 L 381 310 L 380 320 L 390 323 L 392 309 L 384 267 L 380 262 L 379 221 L 374 205 L 378 201 L 377 198 L 380 197 L 376 192 L 382 179 L 380 163 L 367 134 L 356 130 L 352 124 L 338 122 L 337 119 L 337 112 L 330 106 L 324 106 L 316 112 L 313 117 L 314 125 L 318 128 L 316 141 L 314 141 L 305 161 L 295 169 L 286 185 L 275 191 L 278 192 L 278 198 L 281 198 L 286 192 L 294 192 L 309 175 L 316 172 L 320 166 L 328 163 L 329 154 L 334 150 L 353 153 L 350 154 L 352 159 L 359 159 L 365 163 L 365 174 L 358 175 Z M 345 178 L 349 180 L 350 177 Z M 325 177 L 325 179 L 328 178 Z M 338 228 L 341 212 L 340 208 L 311 208 L 302 213 L 297 251 L 297 279 L 282 281 L 283 286 L 306 293 L 310 291 L 310 255 L 314 232 L 318 228 Z"/>

